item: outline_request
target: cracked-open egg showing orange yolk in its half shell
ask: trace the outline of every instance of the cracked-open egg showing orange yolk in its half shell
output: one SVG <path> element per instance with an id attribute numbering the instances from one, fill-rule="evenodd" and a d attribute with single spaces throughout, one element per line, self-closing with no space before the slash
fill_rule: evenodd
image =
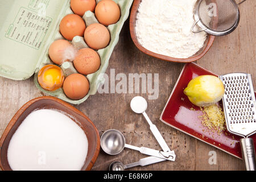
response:
<path id="1" fill-rule="evenodd" d="M 63 71 L 56 65 L 46 65 L 38 73 L 38 82 L 45 90 L 57 90 L 63 85 L 63 81 Z"/>

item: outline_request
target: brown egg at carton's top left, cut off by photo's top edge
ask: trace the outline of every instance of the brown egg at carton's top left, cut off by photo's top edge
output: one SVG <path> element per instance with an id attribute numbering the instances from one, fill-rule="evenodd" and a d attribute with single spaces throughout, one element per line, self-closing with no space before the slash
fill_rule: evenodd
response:
<path id="1" fill-rule="evenodd" d="M 71 0 L 70 6 L 73 12 L 79 16 L 84 16 L 86 11 L 94 11 L 96 6 L 95 0 Z"/>

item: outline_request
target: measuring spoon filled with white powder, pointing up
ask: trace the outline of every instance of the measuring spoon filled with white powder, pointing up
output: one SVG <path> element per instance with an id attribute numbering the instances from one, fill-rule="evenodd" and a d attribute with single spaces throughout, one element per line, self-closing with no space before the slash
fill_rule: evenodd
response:
<path id="1" fill-rule="evenodd" d="M 174 154 L 174 151 L 171 151 L 170 148 L 168 147 L 166 141 L 164 141 L 158 128 L 150 121 L 150 118 L 146 114 L 147 101 L 143 97 L 137 96 L 131 100 L 130 106 L 131 106 L 131 110 L 133 110 L 134 113 L 144 115 L 144 118 L 146 118 L 147 123 L 150 125 L 150 130 L 152 131 L 154 137 L 158 141 L 158 143 L 159 143 L 160 147 L 163 149 L 163 151 L 164 152 L 172 152 L 172 154 Z"/>

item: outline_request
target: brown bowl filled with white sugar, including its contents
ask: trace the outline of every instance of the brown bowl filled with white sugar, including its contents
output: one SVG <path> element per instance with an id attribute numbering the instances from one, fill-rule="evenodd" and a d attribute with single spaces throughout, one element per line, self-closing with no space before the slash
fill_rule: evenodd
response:
<path id="1" fill-rule="evenodd" d="M 100 152 L 93 122 L 55 97 L 27 102 L 0 139 L 0 167 L 5 171 L 88 171 Z"/>

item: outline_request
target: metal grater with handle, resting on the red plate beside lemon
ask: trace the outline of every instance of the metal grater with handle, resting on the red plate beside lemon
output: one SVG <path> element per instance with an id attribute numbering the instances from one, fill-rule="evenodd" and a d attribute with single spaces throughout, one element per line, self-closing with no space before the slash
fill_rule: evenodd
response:
<path id="1" fill-rule="evenodd" d="M 226 127 L 230 133 L 243 137 L 241 142 L 243 159 L 247 170 L 256 170 L 253 139 L 256 133 L 256 101 L 251 75 L 230 73 L 220 76 L 225 87 L 222 98 Z"/>

